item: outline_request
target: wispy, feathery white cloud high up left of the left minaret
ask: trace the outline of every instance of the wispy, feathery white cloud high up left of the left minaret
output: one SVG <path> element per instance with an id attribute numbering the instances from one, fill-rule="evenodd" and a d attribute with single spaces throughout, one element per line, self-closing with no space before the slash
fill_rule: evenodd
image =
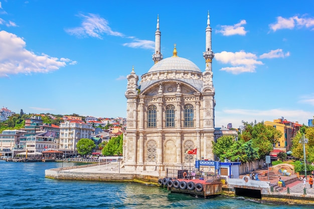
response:
<path id="1" fill-rule="evenodd" d="M 77 28 L 66 29 L 65 31 L 77 37 L 94 37 L 98 39 L 102 39 L 102 34 L 107 34 L 110 36 L 120 36 L 123 37 L 124 35 L 119 32 L 114 32 L 108 26 L 108 21 L 101 18 L 95 14 L 88 14 L 85 16 L 80 14 L 79 17 L 83 18 L 82 25 Z"/>

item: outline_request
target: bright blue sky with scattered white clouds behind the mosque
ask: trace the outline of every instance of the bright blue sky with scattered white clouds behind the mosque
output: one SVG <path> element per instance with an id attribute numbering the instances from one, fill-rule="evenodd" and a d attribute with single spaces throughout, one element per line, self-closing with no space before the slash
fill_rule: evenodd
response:
<path id="1" fill-rule="evenodd" d="M 0 106 L 126 117 L 126 76 L 161 51 L 205 71 L 210 11 L 215 126 L 314 116 L 314 1 L 0 0 Z"/>

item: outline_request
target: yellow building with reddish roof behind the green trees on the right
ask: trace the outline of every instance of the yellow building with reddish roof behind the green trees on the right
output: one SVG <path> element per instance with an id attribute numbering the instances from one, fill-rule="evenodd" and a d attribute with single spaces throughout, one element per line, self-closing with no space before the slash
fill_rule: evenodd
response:
<path id="1" fill-rule="evenodd" d="M 273 122 L 265 121 L 264 124 L 271 125 L 282 133 L 278 143 L 274 144 L 274 148 L 284 151 L 290 150 L 292 145 L 291 138 L 295 136 L 302 126 L 298 122 L 290 122 L 283 118 L 274 119 Z"/>

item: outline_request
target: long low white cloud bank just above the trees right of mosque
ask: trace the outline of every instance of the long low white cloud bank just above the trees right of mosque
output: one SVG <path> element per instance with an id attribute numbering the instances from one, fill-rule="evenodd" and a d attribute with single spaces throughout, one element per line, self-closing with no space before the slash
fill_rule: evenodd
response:
<path id="1" fill-rule="evenodd" d="M 215 127 L 227 126 L 232 123 L 234 128 L 242 125 L 245 122 L 262 122 L 273 121 L 284 117 L 288 121 L 298 122 L 299 124 L 307 125 L 308 116 L 314 115 L 314 112 L 306 112 L 303 110 L 289 109 L 269 109 L 269 110 L 249 110 L 249 109 L 224 109 L 215 111 Z"/>

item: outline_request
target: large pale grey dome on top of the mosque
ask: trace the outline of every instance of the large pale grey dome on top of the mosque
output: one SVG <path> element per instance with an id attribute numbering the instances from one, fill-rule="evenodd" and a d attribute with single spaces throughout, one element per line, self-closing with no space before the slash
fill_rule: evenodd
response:
<path id="1" fill-rule="evenodd" d="M 184 70 L 184 71 L 195 71 L 202 72 L 193 62 L 181 57 L 170 57 L 163 59 L 153 65 L 148 73 L 158 71 L 171 71 L 171 70 Z"/>

